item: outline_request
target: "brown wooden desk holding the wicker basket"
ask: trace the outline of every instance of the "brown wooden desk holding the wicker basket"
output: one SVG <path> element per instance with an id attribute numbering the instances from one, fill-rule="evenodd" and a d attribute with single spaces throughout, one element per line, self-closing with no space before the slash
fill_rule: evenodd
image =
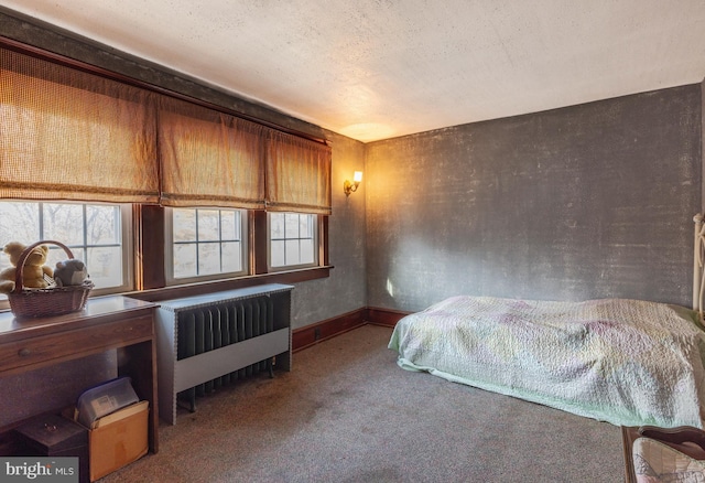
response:
<path id="1" fill-rule="evenodd" d="M 150 401 L 150 451 L 159 450 L 156 342 L 151 302 L 127 297 L 88 299 L 80 312 L 18 320 L 0 313 L 0 377 L 117 350 L 118 375 L 130 376 Z"/>

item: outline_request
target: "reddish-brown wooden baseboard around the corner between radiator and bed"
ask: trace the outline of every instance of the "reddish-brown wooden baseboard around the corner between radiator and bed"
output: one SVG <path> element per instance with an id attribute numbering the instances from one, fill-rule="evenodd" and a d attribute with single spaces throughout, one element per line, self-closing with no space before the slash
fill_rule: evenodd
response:
<path id="1" fill-rule="evenodd" d="M 311 347 L 321 341 L 335 337 L 366 323 L 393 328 L 401 318 L 409 313 L 398 310 L 364 308 L 315 324 L 294 329 L 291 334 L 292 351 L 296 352 Z"/>

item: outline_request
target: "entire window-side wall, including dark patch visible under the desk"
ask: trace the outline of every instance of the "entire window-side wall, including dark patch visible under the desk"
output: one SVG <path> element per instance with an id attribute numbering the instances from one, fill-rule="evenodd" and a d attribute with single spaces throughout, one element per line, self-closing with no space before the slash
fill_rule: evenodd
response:
<path id="1" fill-rule="evenodd" d="M 122 73 L 151 84 L 181 92 L 236 111 L 275 122 L 327 139 L 333 149 L 333 214 L 328 223 L 329 261 L 334 266 L 325 279 L 295 283 L 292 292 L 292 326 L 294 329 L 362 309 L 367 305 L 365 275 L 365 185 L 349 198 L 343 193 L 343 182 L 355 170 L 364 169 L 365 144 L 326 131 L 317 126 L 198 84 L 194 79 L 166 72 L 148 62 L 104 49 L 88 40 L 62 32 L 57 28 L 21 15 L 10 14 L 0 7 L 0 35 L 46 49 L 73 58 Z M 109 355 L 108 355 L 109 356 Z M 21 407 L 40 412 L 75 402 L 77 387 L 89 387 L 109 378 L 112 358 L 83 359 L 64 368 L 39 369 L 19 376 L 0 378 L 0 394 L 12 395 L 3 401 L 0 427 L 21 417 Z M 98 379 L 96 380 L 96 377 Z M 45 386 L 53 388 L 45 397 Z M 36 388 L 18 391 L 18 387 Z"/>

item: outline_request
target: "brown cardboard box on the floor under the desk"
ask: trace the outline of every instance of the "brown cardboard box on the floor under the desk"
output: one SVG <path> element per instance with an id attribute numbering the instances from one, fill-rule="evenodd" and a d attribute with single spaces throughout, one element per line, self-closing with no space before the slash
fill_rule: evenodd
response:
<path id="1" fill-rule="evenodd" d="M 139 460 L 148 451 L 149 401 L 97 419 L 88 433 L 90 481 Z"/>

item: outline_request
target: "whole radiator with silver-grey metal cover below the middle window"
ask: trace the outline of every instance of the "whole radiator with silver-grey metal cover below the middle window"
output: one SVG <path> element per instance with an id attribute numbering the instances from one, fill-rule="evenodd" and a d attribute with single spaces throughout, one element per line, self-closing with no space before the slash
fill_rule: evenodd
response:
<path id="1" fill-rule="evenodd" d="M 291 290 L 270 283 L 159 302 L 160 416 L 256 374 L 291 371 Z"/>

